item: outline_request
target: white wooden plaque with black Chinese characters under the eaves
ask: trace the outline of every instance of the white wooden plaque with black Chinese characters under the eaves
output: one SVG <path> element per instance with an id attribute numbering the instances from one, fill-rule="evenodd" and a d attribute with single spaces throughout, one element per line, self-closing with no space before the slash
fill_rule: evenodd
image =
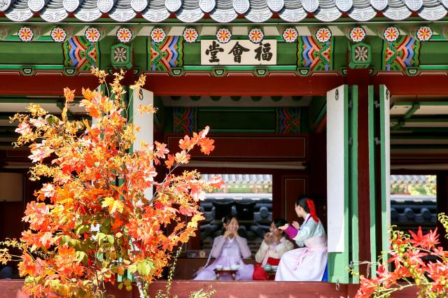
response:
<path id="1" fill-rule="evenodd" d="M 239 40 L 219 43 L 201 41 L 202 65 L 276 65 L 277 41 L 268 39 L 260 43 Z"/>

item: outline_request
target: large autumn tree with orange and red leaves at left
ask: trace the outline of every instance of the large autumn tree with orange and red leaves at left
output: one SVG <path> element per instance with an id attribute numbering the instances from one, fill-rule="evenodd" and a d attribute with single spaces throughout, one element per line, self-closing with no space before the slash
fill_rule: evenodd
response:
<path id="1" fill-rule="evenodd" d="M 104 71 L 92 72 L 108 85 Z M 35 104 L 29 113 L 12 118 L 19 122 L 15 146 L 29 145 L 31 150 L 31 180 L 50 181 L 27 204 L 23 220 L 29 229 L 21 241 L 4 243 L 22 249 L 19 271 L 26 276 L 23 290 L 29 295 L 103 297 L 105 283 L 132 289 L 127 278 L 117 282 L 128 271 L 145 297 L 148 283 L 161 276 L 172 250 L 195 235 L 203 219 L 198 200 L 204 190 L 223 183 L 220 178 L 204 181 L 197 171 L 174 173 L 179 164 L 188 163 L 195 146 L 206 155 L 214 150 L 214 141 L 207 138 L 209 127 L 181 139 L 176 153 L 157 141 L 141 142 L 141 150 L 131 150 L 143 128 L 127 115 L 123 76 L 123 71 L 115 73 L 110 94 L 82 90 L 80 106 L 95 119 L 92 124 L 67 118 L 75 95 L 69 89 L 64 89 L 60 118 Z M 141 76 L 131 90 L 144 82 Z M 140 106 L 138 113 L 155 113 L 155 108 Z M 158 176 L 155 166 L 167 168 L 164 176 Z M 145 196 L 149 187 L 154 187 L 152 197 Z M 173 232 L 166 232 L 167 225 Z M 10 258 L 15 257 L 1 250 L 0 260 Z"/>

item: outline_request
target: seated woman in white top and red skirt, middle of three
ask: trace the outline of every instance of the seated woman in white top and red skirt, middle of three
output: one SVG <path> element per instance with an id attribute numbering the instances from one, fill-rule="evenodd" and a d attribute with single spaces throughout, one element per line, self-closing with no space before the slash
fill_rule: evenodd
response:
<path id="1" fill-rule="evenodd" d="M 267 281 L 267 274 L 262 266 L 265 264 L 277 266 L 280 262 L 281 255 L 294 248 L 293 243 L 287 240 L 283 235 L 283 231 L 279 229 L 279 227 L 286 224 L 287 222 L 283 218 L 276 218 L 271 222 L 270 232 L 265 235 L 265 239 L 262 241 L 260 249 L 255 255 L 255 261 L 260 264 L 254 267 L 254 281 Z M 269 279 L 274 280 L 274 276 Z"/>

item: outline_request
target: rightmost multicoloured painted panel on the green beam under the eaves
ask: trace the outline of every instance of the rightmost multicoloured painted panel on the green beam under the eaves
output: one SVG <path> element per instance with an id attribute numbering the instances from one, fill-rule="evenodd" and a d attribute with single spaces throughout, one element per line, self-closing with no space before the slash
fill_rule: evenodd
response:
<path id="1" fill-rule="evenodd" d="M 405 71 L 406 67 L 419 66 L 420 41 L 409 35 L 396 41 L 384 41 L 382 69 Z"/>

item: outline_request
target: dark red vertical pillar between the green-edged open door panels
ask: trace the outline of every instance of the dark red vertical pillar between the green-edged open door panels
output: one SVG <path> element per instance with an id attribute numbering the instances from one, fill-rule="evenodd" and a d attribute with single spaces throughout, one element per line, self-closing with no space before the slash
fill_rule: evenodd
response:
<path id="1" fill-rule="evenodd" d="M 370 261 L 370 197 L 369 197 L 369 139 L 368 86 L 369 69 L 348 69 L 347 84 L 358 85 L 358 237 L 359 261 Z M 367 267 L 360 267 L 365 274 Z"/>

